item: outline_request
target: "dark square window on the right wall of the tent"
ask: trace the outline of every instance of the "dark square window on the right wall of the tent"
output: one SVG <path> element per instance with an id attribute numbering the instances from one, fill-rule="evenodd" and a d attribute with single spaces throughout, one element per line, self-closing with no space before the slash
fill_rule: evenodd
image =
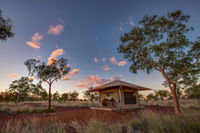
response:
<path id="1" fill-rule="evenodd" d="M 124 92 L 124 102 L 125 104 L 137 104 L 136 93 Z"/>

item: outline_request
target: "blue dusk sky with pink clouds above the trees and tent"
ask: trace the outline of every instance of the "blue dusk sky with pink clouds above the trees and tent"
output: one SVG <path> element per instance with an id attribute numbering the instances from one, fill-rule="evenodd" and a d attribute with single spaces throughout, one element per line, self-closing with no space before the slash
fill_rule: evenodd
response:
<path id="1" fill-rule="evenodd" d="M 194 40 L 200 33 L 199 6 L 199 0 L 0 0 L 2 15 L 12 20 L 15 32 L 0 42 L 0 91 L 28 76 L 27 59 L 51 64 L 60 57 L 68 59 L 71 71 L 53 84 L 52 92 L 81 93 L 115 79 L 164 89 L 160 73 L 129 71 L 130 63 L 117 52 L 120 37 L 144 15 L 182 10 L 191 16 L 194 31 L 188 37 Z"/>

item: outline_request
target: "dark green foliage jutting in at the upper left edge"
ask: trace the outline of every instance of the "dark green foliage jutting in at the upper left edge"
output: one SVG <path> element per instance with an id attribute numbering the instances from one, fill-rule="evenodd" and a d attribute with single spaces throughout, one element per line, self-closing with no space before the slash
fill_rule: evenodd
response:
<path id="1" fill-rule="evenodd" d="M 13 25 L 11 20 L 4 18 L 0 10 L 0 40 L 6 41 L 8 38 L 14 37 L 12 29 Z"/>

